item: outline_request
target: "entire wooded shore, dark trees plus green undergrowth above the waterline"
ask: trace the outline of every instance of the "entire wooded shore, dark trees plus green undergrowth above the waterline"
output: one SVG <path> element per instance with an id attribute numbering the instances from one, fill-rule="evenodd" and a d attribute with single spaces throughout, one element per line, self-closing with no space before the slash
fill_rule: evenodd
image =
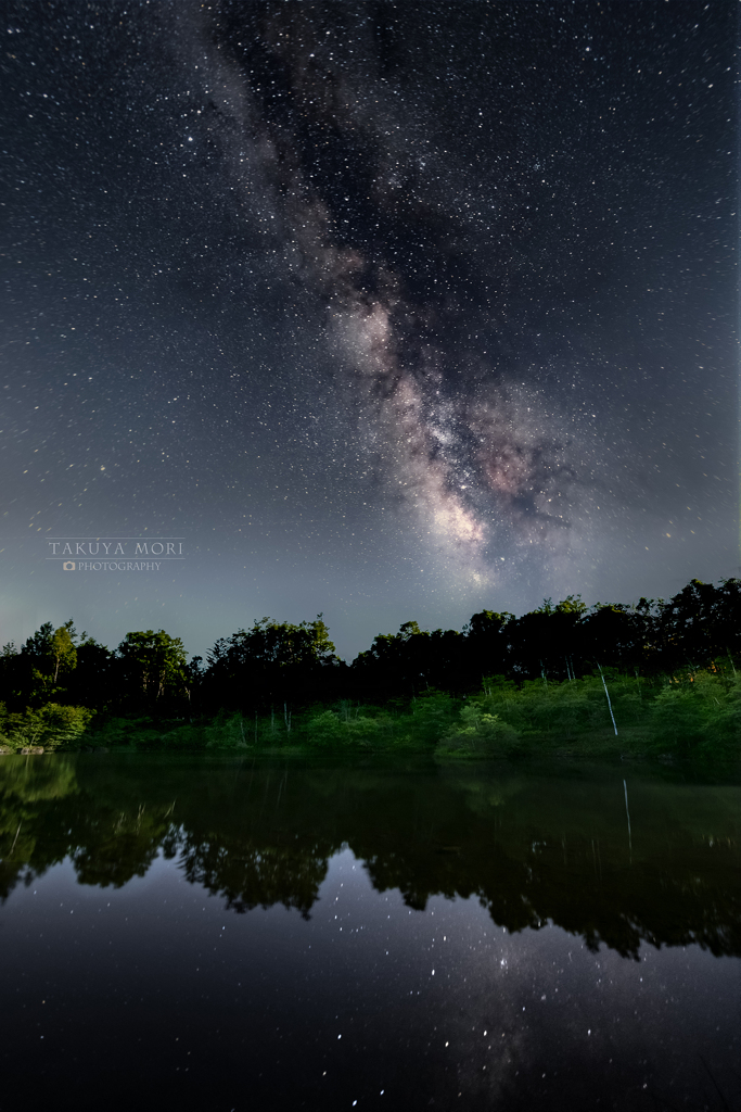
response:
<path id="1" fill-rule="evenodd" d="M 110 649 L 72 619 L 0 654 L 0 752 L 422 749 L 741 756 L 741 579 L 672 598 L 404 622 L 351 664 L 322 615 L 253 622 L 189 659 L 163 629 Z"/>

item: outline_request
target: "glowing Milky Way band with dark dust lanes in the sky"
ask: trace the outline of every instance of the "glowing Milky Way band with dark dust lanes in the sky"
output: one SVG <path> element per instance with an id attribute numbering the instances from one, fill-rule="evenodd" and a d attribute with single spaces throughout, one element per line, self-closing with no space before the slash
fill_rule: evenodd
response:
<path id="1" fill-rule="evenodd" d="M 381 76 L 371 9 L 228 6 L 199 12 L 187 46 L 236 180 L 278 226 L 284 277 L 322 308 L 379 481 L 480 579 L 513 540 L 567 552 L 582 415 L 564 435 L 532 368 L 502 353 L 511 270 L 525 266 L 507 236 L 492 241 L 523 220 L 510 173 L 488 183 L 505 195 L 488 212 L 462 200 L 424 113 Z M 591 493 L 594 479 L 592 466 Z"/>

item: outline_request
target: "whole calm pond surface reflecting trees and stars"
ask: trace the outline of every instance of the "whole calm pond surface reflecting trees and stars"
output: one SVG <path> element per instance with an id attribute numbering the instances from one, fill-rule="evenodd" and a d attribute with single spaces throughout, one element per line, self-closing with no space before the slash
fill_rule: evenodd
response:
<path id="1" fill-rule="evenodd" d="M 741 787 L 0 758 L 0 1108 L 741 1108 Z"/>

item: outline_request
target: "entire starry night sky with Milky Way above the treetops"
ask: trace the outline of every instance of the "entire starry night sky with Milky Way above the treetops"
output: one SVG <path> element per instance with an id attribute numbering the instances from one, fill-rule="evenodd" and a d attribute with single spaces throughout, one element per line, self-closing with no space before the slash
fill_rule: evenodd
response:
<path id="1" fill-rule="evenodd" d="M 2 642 L 322 612 L 351 658 L 739 574 L 735 4 L 3 21 Z"/>

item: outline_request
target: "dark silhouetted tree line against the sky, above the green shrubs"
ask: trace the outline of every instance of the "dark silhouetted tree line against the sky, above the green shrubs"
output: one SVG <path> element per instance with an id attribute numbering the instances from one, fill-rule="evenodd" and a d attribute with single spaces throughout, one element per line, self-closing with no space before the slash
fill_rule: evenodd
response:
<path id="1" fill-rule="evenodd" d="M 404 622 L 380 634 L 351 664 L 340 659 L 322 615 L 292 624 L 253 622 L 216 642 L 206 661 L 191 659 L 163 629 L 127 633 L 110 649 L 70 619 L 46 623 L 20 649 L 0 654 L 6 714 L 30 708 L 56 714 L 87 708 L 110 714 L 197 718 L 220 711 L 271 713 L 338 699 L 384 703 L 440 689 L 462 696 L 482 677 L 515 684 L 583 678 L 609 667 L 635 676 L 699 668 L 741 654 L 741 579 L 692 579 L 672 598 L 598 603 L 579 595 L 550 598 L 515 617 L 481 610 L 462 631 L 421 629 Z M 56 708 L 50 711 L 49 708 Z M 69 717 L 69 715 L 68 715 Z M 70 729 L 74 724 L 70 723 Z"/>

